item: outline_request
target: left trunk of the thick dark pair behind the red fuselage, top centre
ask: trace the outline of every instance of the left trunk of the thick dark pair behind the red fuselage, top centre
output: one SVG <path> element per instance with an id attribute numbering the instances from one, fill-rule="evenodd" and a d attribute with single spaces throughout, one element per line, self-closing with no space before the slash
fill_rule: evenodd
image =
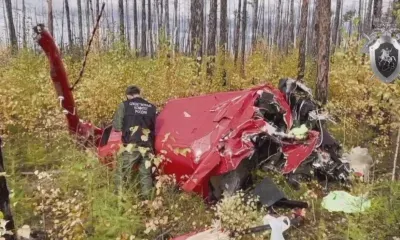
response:
<path id="1" fill-rule="evenodd" d="M 191 0 L 191 52 L 200 60 L 203 53 L 203 9 L 202 0 Z"/>

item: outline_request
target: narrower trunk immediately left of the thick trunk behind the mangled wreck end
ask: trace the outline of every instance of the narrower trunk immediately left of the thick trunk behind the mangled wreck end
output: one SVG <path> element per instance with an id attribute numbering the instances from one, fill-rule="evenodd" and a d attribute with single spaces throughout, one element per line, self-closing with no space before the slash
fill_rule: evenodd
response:
<path id="1" fill-rule="evenodd" d="M 300 19 L 300 42 L 299 42 L 299 73 L 297 79 L 304 78 L 306 69 L 306 38 L 307 38 L 307 18 L 308 18 L 308 0 L 303 0 L 301 5 L 301 19 Z"/>

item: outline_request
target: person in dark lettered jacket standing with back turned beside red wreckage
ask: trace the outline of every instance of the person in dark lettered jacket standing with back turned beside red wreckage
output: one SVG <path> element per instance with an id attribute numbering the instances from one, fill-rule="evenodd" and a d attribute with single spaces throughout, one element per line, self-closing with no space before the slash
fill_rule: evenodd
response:
<path id="1" fill-rule="evenodd" d="M 154 154 L 156 107 L 140 96 L 140 89 L 129 86 L 127 100 L 122 102 L 114 115 L 113 128 L 122 132 L 123 151 L 117 160 L 116 190 L 130 182 L 132 167 L 139 164 L 142 195 L 150 197 L 153 187 L 149 154 Z"/>

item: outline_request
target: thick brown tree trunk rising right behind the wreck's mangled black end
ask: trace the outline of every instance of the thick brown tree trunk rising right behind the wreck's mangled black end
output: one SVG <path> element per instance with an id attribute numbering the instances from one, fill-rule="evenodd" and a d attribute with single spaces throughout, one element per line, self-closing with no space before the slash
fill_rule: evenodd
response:
<path id="1" fill-rule="evenodd" d="M 319 2 L 318 8 L 318 70 L 316 83 L 316 97 L 322 104 L 328 101 L 329 82 L 329 50 L 331 34 L 331 0 Z"/>

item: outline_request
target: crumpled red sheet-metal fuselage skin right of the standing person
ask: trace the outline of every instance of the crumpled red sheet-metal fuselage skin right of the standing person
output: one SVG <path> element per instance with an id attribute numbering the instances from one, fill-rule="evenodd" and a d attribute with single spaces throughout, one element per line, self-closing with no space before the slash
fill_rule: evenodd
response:
<path id="1" fill-rule="evenodd" d="M 254 153 L 252 136 L 268 129 L 266 121 L 254 118 L 260 90 L 273 93 L 286 129 L 290 129 L 290 107 L 271 85 L 169 101 L 156 124 L 156 150 L 169 159 L 164 172 L 175 174 L 185 191 L 206 196 L 209 178 L 234 170 L 250 157 Z"/>

